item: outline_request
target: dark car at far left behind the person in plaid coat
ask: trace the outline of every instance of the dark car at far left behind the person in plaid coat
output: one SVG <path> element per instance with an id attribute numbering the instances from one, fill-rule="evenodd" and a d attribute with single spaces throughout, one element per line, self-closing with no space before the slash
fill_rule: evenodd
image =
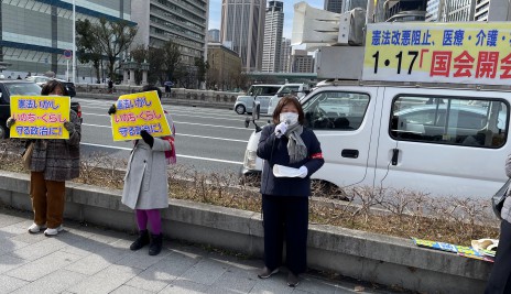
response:
<path id="1" fill-rule="evenodd" d="M 7 119 L 11 116 L 11 96 L 37 96 L 41 95 L 41 86 L 33 81 L 26 80 L 0 80 L 0 139 L 9 138 L 9 132 L 6 126 Z M 80 121 L 81 107 L 78 102 L 72 101 L 70 108 L 76 111 Z"/>

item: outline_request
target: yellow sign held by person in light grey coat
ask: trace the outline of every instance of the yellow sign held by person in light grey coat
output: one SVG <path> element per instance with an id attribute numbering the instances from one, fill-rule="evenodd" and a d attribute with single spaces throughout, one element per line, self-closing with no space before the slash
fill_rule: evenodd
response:
<path id="1" fill-rule="evenodd" d="M 141 139 L 140 131 L 153 137 L 171 135 L 171 128 L 156 91 L 122 95 L 111 116 L 113 141 Z"/>

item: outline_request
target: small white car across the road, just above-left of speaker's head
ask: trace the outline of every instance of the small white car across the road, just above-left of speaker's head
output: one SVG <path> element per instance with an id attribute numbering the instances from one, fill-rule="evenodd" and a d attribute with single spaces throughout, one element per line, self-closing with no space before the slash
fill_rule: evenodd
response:
<path id="1" fill-rule="evenodd" d="M 253 104 L 257 101 L 260 105 L 261 113 L 268 112 L 270 98 L 275 95 L 282 85 L 252 85 L 247 95 L 240 95 L 236 98 L 235 111 L 238 115 L 252 113 Z"/>

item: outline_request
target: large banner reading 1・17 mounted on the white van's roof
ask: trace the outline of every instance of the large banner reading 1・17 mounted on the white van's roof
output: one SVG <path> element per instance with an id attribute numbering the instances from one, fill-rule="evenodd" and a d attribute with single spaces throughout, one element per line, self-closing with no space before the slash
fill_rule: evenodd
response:
<path id="1" fill-rule="evenodd" d="M 511 22 L 368 24 L 362 79 L 511 85 Z"/>

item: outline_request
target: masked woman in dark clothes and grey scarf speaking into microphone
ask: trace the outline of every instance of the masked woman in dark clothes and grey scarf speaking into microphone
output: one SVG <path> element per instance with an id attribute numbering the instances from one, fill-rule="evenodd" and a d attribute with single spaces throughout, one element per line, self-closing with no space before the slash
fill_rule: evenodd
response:
<path id="1" fill-rule="evenodd" d="M 264 227 L 264 268 L 260 279 L 279 272 L 286 243 L 287 285 L 296 286 L 307 268 L 308 196 L 311 175 L 325 163 L 319 141 L 304 127 L 298 99 L 285 96 L 273 112 L 273 124 L 262 129 L 258 156 Z"/>

